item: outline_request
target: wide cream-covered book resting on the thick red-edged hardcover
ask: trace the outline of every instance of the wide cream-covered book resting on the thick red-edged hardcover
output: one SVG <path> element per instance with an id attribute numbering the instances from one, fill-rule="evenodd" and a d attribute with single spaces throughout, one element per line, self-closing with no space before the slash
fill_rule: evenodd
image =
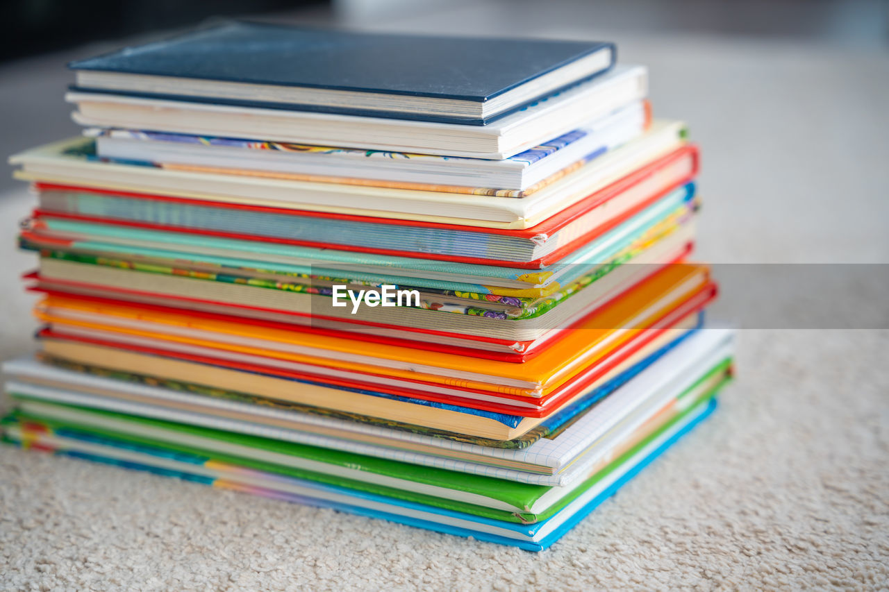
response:
<path id="1" fill-rule="evenodd" d="M 53 184 L 482 228 L 532 228 L 684 142 L 685 124 L 655 121 L 636 140 L 594 158 L 525 197 L 474 196 L 104 163 L 84 156 L 92 139 L 82 137 L 28 150 L 12 156 L 10 163 L 21 166 L 15 173 L 19 179 Z"/>

